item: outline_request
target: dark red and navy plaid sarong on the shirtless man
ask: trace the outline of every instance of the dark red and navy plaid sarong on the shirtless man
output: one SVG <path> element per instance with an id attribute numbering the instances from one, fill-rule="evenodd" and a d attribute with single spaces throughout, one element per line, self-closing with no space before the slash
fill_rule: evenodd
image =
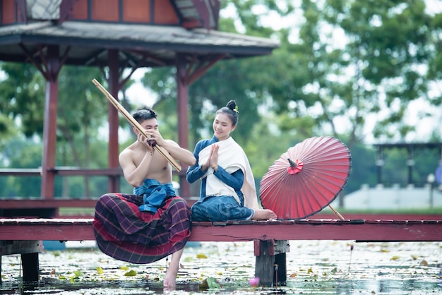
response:
<path id="1" fill-rule="evenodd" d="M 143 195 L 107 193 L 92 223 L 100 250 L 129 263 L 153 263 L 184 248 L 191 234 L 186 200 L 170 196 L 155 214 L 141 212 Z"/>

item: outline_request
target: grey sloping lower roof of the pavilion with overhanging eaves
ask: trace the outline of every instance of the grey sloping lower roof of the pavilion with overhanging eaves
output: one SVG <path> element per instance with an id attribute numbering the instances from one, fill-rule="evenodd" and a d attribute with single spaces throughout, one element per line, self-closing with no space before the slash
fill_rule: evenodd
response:
<path id="1" fill-rule="evenodd" d="M 60 45 L 66 64 L 105 66 L 107 49 L 118 49 L 126 66 L 174 65 L 177 53 L 196 59 L 225 54 L 225 59 L 271 54 L 279 42 L 205 28 L 80 21 L 37 21 L 0 27 L 0 60 L 38 61 L 46 45 Z M 25 54 L 27 52 L 28 54 Z M 124 66 L 124 65 L 121 65 Z"/>

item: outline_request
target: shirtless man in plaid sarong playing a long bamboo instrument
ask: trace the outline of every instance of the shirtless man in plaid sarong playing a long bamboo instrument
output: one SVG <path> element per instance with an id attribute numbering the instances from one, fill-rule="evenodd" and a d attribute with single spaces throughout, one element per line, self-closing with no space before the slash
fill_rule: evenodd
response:
<path id="1" fill-rule="evenodd" d="M 162 138 L 153 109 L 138 109 L 133 119 L 148 136 L 133 128 L 137 140 L 119 155 L 134 193 L 107 193 L 97 200 L 93 222 L 97 245 L 103 253 L 130 263 L 152 263 L 172 254 L 164 287 L 174 289 L 179 259 L 191 233 L 191 211 L 172 187 L 171 164 L 154 146 L 189 166 L 196 159 L 173 140 Z"/>

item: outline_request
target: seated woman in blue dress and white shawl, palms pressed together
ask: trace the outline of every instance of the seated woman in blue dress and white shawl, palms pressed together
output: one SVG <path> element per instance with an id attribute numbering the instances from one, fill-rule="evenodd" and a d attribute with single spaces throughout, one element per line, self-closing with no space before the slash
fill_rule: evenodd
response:
<path id="1" fill-rule="evenodd" d="M 216 112 L 213 138 L 196 144 L 196 163 L 186 171 L 189 183 L 201 179 L 200 198 L 191 207 L 193 221 L 277 218 L 272 210 L 258 205 L 249 159 L 230 136 L 237 122 L 238 107 L 230 100 Z"/>

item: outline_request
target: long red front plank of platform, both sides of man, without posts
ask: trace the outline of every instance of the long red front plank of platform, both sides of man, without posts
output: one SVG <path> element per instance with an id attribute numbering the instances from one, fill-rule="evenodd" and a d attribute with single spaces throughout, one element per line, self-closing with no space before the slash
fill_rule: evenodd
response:
<path id="1" fill-rule="evenodd" d="M 94 240 L 92 219 L 0 219 L 0 240 Z M 321 220 L 193 222 L 189 241 L 442 241 L 442 222 Z"/>

